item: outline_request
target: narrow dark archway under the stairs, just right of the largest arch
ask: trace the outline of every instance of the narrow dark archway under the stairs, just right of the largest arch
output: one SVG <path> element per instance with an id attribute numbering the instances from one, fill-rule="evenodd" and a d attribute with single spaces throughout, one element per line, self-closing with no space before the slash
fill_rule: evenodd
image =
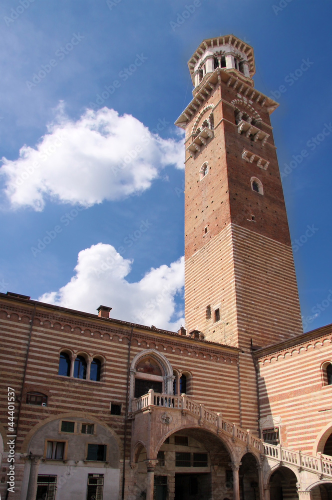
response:
<path id="1" fill-rule="evenodd" d="M 259 500 L 260 487 L 257 460 L 252 453 L 241 458 L 239 468 L 240 500 Z"/>

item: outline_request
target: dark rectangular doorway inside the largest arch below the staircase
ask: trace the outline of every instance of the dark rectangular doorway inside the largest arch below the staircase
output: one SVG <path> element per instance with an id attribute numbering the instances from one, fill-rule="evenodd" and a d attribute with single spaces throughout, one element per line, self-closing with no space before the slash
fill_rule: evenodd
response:
<path id="1" fill-rule="evenodd" d="M 211 474 L 175 474 L 174 500 L 202 500 L 211 496 Z"/>

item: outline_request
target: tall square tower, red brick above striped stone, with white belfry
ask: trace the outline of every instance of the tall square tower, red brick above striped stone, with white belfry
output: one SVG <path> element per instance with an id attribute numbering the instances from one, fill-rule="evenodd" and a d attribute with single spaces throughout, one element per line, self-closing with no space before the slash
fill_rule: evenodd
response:
<path id="1" fill-rule="evenodd" d="M 188 62 L 185 129 L 185 317 L 207 340 L 249 352 L 302 332 L 270 113 L 254 88 L 251 46 L 202 41 Z"/>

